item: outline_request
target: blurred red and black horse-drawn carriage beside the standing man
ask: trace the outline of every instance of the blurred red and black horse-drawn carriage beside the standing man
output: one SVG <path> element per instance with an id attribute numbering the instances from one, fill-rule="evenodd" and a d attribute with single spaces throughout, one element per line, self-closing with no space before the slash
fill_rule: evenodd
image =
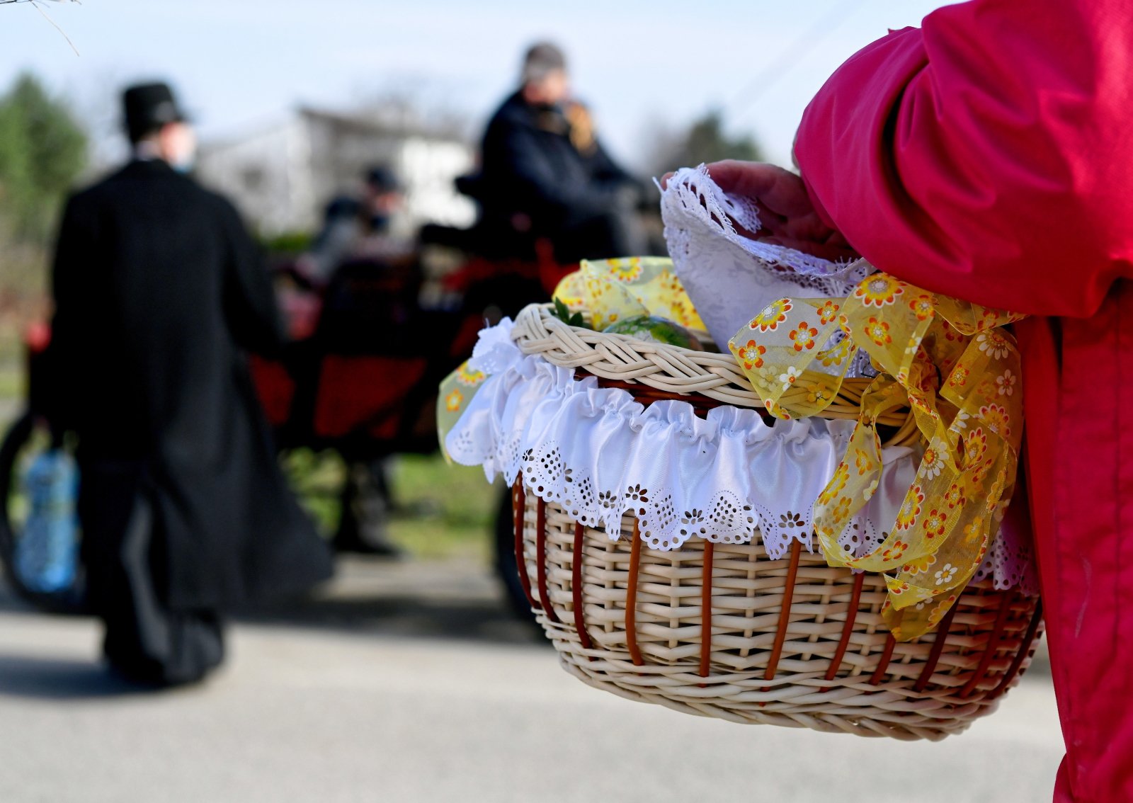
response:
<path id="1" fill-rule="evenodd" d="M 426 236 L 442 240 L 443 246 L 453 245 L 444 241 L 449 236 L 444 230 Z M 546 298 L 569 270 L 552 259 L 459 255 L 459 267 L 443 276 L 425 270 L 419 254 L 407 259 L 349 260 L 325 287 L 307 281 L 291 266 L 276 271 L 291 340 L 281 354 L 249 356 L 249 367 L 282 459 L 300 450 L 330 451 L 347 464 L 374 464 L 394 454 L 434 452 L 440 379 L 470 353 L 485 319 Z M 433 302 L 423 304 L 423 297 Z M 5 495 L 0 562 L 10 587 L 32 604 L 80 612 L 80 567 L 73 581 L 43 589 L 29 583 L 16 562 L 29 511 L 27 469 L 34 455 L 52 445 L 37 403 L 45 384 L 42 354 L 49 341 L 45 324 L 33 327 L 26 339 L 28 404 L 0 444 L 0 493 Z M 68 444 L 57 437 L 54 445 Z M 301 482 L 297 492 L 300 496 L 331 493 L 339 501 L 343 495 L 341 487 Z M 495 528 L 500 576 L 517 608 L 526 610 L 511 548 L 510 501 L 502 492 L 500 507 L 503 513 Z M 352 505 L 342 505 L 341 515 L 357 514 Z M 54 559 L 74 561 L 74 554 L 71 547 L 70 556 Z"/>

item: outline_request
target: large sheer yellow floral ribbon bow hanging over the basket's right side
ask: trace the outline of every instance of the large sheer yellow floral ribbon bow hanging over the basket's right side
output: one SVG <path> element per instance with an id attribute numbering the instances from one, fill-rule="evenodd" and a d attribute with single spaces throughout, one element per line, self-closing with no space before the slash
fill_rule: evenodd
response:
<path id="1" fill-rule="evenodd" d="M 936 625 L 983 559 L 1011 502 L 1023 429 L 1020 356 L 999 327 L 1023 316 L 930 293 L 885 273 L 845 299 L 783 298 L 729 343 L 780 418 L 825 410 L 860 347 L 881 373 L 813 524 L 830 565 L 880 572 L 897 639 Z M 853 555 L 838 535 L 881 478 L 878 418 L 910 408 L 925 438 L 915 480 L 884 540 Z"/>

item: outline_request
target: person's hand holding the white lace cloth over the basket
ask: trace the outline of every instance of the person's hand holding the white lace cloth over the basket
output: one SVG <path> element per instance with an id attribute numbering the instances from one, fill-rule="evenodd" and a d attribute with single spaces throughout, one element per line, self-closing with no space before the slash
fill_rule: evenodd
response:
<path id="1" fill-rule="evenodd" d="M 789 170 L 763 162 L 726 160 L 709 164 L 708 174 L 724 193 L 756 203 L 761 224 L 759 231 L 746 231 L 732 221 L 744 237 L 824 259 L 858 258 L 858 253 L 841 232 L 823 223 L 802 179 Z M 668 186 L 672 176 L 666 173 L 661 179 L 662 189 Z"/>

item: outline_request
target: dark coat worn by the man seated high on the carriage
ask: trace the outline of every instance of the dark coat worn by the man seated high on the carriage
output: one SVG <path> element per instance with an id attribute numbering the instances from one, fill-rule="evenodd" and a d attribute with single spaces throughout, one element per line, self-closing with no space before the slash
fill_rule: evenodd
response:
<path id="1" fill-rule="evenodd" d="M 555 232 L 580 219 L 619 211 L 637 182 L 595 140 L 587 152 L 571 142 L 557 106 L 536 106 L 520 93 L 496 110 L 480 150 L 480 202 L 493 211 L 530 215 L 536 230 Z"/>

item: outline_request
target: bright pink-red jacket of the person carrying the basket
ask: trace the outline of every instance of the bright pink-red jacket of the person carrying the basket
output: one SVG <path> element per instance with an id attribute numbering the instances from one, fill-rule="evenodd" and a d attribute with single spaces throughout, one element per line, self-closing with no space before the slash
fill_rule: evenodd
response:
<path id="1" fill-rule="evenodd" d="M 1067 757 L 1133 801 L 1133 3 L 974 0 L 891 33 L 808 106 L 819 214 L 877 267 L 1016 324 Z"/>

